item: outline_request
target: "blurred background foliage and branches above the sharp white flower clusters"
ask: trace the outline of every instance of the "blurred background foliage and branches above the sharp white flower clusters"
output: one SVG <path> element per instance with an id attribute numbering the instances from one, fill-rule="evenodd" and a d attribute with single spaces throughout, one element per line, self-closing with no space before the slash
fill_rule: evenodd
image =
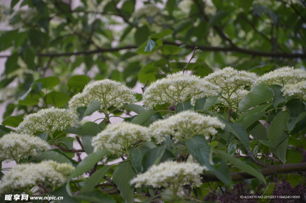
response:
<path id="1" fill-rule="evenodd" d="M 226 66 L 261 75 L 306 64 L 304 0 L 81 0 L 76 5 L 12 0 L 10 8 L 0 7 L 1 21 L 10 28 L 1 33 L 0 51 L 11 53 L 2 55 L 7 61 L 1 100 L 12 101 L 3 119 L 16 107 L 24 109 L 21 117 L 43 105 L 65 107 L 90 80 L 150 84 L 181 71 L 186 63 L 178 62 L 187 62 L 195 47 L 202 52 L 188 70 L 200 76 Z M 40 79 L 47 76 L 58 79 Z"/>

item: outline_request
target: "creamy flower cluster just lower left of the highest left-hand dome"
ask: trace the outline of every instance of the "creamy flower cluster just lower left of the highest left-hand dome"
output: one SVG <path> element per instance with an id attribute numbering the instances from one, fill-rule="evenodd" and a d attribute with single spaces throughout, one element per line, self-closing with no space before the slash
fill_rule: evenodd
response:
<path id="1" fill-rule="evenodd" d="M 33 134 L 36 131 L 54 132 L 55 130 L 64 130 L 70 123 L 76 121 L 77 116 L 73 111 L 50 107 L 26 116 L 16 131 L 27 134 Z"/>

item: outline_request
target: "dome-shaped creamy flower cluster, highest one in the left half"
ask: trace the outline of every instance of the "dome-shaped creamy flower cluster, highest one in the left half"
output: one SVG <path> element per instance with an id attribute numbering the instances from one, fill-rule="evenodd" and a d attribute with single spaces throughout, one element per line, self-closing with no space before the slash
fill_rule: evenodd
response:
<path id="1" fill-rule="evenodd" d="M 111 106 L 121 107 L 124 103 L 135 103 L 135 92 L 120 82 L 103 79 L 84 87 L 82 93 L 74 95 L 68 102 L 69 108 L 75 110 L 80 106 L 87 106 L 92 100 L 101 103 L 101 109 Z"/>

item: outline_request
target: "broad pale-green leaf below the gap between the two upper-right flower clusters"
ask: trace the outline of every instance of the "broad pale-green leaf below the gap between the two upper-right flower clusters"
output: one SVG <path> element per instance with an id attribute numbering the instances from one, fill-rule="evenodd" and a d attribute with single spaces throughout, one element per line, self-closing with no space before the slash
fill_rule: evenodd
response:
<path id="1" fill-rule="evenodd" d="M 273 97 L 273 91 L 266 83 L 258 84 L 253 88 L 252 92 L 245 95 L 245 97 L 239 102 L 239 113 L 266 102 Z"/>

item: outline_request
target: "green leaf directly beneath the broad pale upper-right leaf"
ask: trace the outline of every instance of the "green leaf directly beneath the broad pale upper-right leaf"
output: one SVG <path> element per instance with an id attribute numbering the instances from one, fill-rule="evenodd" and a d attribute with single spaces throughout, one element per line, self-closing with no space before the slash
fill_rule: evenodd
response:
<path id="1" fill-rule="evenodd" d="M 238 118 L 235 123 L 239 123 L 243 125 L 245 129 L 250 127 L 255 121 L 263 117 L 267 112 L 267 108 L 271 106 L 271 104 L 264 104 L 264 105 L 259 105 L 255 107 L 254 109 L 251 109 L 249 111 L 246 111 L 240 118 Z"/>

